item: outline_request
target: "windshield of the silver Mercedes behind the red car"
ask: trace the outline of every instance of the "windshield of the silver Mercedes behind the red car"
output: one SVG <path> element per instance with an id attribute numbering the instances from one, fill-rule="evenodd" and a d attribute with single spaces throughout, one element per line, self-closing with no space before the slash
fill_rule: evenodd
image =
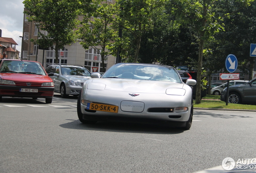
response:
<path id="1" fill-rule="evenodd" d="M 90 76 L 91 73 L 84 67 L 61 67 L 62 75 Z"/>

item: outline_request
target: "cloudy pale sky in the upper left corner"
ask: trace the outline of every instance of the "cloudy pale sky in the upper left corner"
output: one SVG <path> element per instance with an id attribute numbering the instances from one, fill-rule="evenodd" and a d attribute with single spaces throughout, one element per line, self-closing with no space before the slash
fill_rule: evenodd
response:
<path id="1" fill-rule="evenodd" d="M 2 37 L 12 38 L 18 45 L 16 49 L 21 52 L 23 33 L 24 0 L 0 0 L 0 29 Z"/>

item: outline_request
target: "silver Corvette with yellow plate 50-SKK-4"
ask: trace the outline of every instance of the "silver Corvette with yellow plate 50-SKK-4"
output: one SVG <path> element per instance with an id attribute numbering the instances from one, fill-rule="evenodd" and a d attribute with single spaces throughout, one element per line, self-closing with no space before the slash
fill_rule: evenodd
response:
<path id="1" fill-rule="evenodd" d="M 119 63 L 100 77 L 91 74 L 78 96 L 81 123 L 121 120 L 161 123 L 190 129 L 192 89 L 196 80 L 182 82 L 171 66 Z"/>

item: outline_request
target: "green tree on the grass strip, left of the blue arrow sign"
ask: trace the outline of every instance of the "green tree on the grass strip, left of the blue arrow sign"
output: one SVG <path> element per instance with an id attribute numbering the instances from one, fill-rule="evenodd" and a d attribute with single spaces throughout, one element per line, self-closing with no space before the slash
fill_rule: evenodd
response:
<path id="1" fill-rule="evenodd" d="M 254 0 L 240 0 L 241 7 L 250 5 Z M 174 15 L 177 15 L 183 23 L 189 24 L 198 38 L 198 64 L 197 81 L 202 78 L 202 59 L 204 43 L 213 39 L 213 35 L 220 30 L 224 30 L 223 17 L 216 16 L 215 7 L 217 0 L 171 0 L 170 7 Z M 236 10 L 235 10 L 236 11 Z M 200 82 L 196 84 L 196 104 L 201 101 Z"/>

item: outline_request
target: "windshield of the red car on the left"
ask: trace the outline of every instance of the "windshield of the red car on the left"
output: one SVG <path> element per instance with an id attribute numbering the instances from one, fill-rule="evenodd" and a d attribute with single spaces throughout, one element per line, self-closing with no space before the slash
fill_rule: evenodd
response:
<path id="1" fill-rule="evenodd" d="M 39 62 L 4 60 L 0 72 L 46 75 Z"/>

